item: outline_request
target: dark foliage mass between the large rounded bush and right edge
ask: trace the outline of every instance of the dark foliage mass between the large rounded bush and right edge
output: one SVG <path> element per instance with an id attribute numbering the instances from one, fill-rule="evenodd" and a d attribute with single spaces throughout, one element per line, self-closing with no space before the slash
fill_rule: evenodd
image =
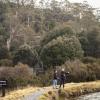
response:
<path id="1" fill-rule="evenodd" d="M 79 39 L 85 56 L 100 57 L 100 31 L 98 29 L 80 33 Z"/>

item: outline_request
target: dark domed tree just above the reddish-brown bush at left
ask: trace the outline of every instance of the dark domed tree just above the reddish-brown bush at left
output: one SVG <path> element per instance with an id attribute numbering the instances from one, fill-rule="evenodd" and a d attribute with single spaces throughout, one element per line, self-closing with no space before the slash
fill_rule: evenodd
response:
<path id="1" fill-rule="evenodd" d="M 33 66 L 36 62 L 36 58 L 35 55 L 32 53 L 31 49 L 27 47 L 22 47 L 14 54 L 13 57 L 13 63 L 17 64 L 18 62 Z"/>

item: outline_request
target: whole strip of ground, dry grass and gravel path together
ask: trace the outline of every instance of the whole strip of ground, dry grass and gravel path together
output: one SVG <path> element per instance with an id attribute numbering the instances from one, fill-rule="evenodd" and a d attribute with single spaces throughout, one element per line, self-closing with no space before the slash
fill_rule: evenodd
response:
<path id="1" fill-rule="evenodd" d="M 27 87 L 12 91 L 0 100 L 73 100 L 75 97 L 94 92 L 100 92 L 100 81 L 68 83 L 64 89 Z"/>

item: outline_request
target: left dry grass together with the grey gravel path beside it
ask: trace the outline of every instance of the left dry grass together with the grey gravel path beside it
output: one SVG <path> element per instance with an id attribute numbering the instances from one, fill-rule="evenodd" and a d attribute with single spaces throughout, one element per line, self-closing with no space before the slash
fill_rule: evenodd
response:
<path id="1" fill-rule="evenodd" d="M 51 90 L 51 87 L 27 87 L 6 94 L 5 97 L 0 97 L 0 100 L 39 100 L 39 97 Z"/>

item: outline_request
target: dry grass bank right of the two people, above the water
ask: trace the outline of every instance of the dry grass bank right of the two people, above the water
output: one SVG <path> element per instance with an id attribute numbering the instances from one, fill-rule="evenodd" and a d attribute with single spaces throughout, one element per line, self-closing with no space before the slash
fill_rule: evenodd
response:
<path id="1" fill-rule="evenodd" d="M 66 84 L 64 89 L 70 97 L 80 96 L 87 93 L 100 91 L 100 81 Z"/>

